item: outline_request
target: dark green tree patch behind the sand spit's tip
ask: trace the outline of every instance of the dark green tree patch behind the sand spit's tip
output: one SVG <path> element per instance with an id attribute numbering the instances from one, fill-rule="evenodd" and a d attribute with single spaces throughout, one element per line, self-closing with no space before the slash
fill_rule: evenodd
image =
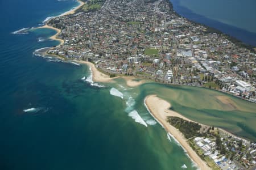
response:
<path id="1" fill-rule="evenodd" d="M 187 139 L 194 136 L 200 136 L 201 125 L 195 122 L 186 121 L 183 118 L 174 116 L 168 116 L 167 122 L 169 122 L 175 128 L 179 129 Z"/>

